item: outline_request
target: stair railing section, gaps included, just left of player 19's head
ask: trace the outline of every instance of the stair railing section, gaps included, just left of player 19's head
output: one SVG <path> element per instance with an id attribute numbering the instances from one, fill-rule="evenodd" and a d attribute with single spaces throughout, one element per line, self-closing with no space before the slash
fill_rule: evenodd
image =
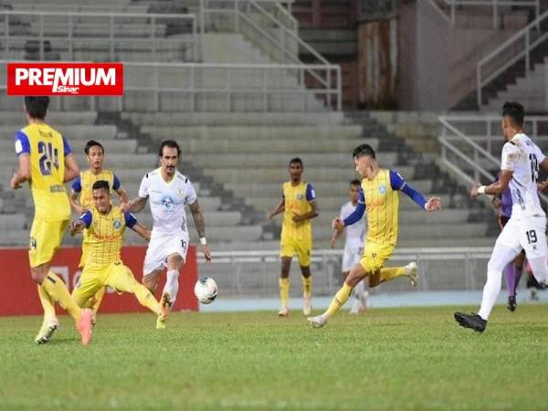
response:
<path id="1" fill-rule="evenodd" d="M 441 162 L 466 184 L 481 177 L 494 181 L 501 168 L 501 117 L 489 115 L 439 116 Z M 548 142 L 548 116 L 528 116 L 525 132 L 540 145 Z M 548 196 L 540 195 L 544 205 Z"/>

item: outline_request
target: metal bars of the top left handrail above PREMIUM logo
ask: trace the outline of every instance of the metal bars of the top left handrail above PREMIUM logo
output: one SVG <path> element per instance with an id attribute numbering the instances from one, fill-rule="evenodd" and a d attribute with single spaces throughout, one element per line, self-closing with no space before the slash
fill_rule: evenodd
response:
<path id="1" fill-rule="evenodd" d="M 37 17 L 38 21 L 38 27 L 39 31 L 37 36 L 18 36 L 16 34 L 10 33 L 10 18 L 14 18 L 15 16 L 31 16 L 31 17 Z M 47 36 L 45 33 L 45 27 L 44 27 L 44 18 L 45 17 L 51 17 L 51 16 L 58 16 L 58 17 L 65 17 L 67 18 L 67 36 L 59 37 L 59 36 Z M 157 48 L 157 40 L 159 38 L 162 38 L 163 41 L 169 42 L 169 43 L 181 43 L 185 45 L 190 45 L 192 49 L 192 60 L 198 59 L 198 43 L 196 41 L 197 38 L 197 26 L 196 26 L 196 17 L 192 14 L 170 14 L 170 15 L 163 15 L 158 13 L 99 13 L 99 12 L 73 12 L 73 11 L 10 11 L 10 10 L 0 10 L 0 18 L 3 18 L 5 20 L 4 24 L 4 48 L 3 48 L 3 58 L 9 59 L 9 52 L 10 52 L 10 40 L 11 41 L 17 41 L 20 42 L 21 40 L 27 41 L 27 40 L 39 40 L 39 58 L 44 59 L 45 57 L 45 49 L 44 49 L 44 41 L 68 41 L 68 59 L 74 60 L 74 49 L 75 49 L 75 42 L 81 41 L 82 39 L 85 39 L 87 42 L 94 41 L 94 40 L 100 40 L 103 42 L 107 42 L 109 46 L 109 57 L 111 61 L 116 60 L 116 56 L 114 53 L 114 45 L 115 43 L 119 41 L 129 42 L 129 43 L 142 43 L 142 42 L 151 42 L 152 43 L 152 58 L 156 58 L 156 48 Z M 75 20 L 81 20 L 85 19 L 86 17 L 101 17 L 104 20 L 108 22 L 109 25 L 109 36 L 108 37 L 100 37 L 100 38 L 90 38 L 90 37 L 79 37 L 76 36 L 74 33 L 74 29 L 81 24 L 81 22 L 76 23 Z M 115 30 L 114 26 L 116 24 L 117 19 L 128 19 L 128 18 L 142 18 L 143 22 L 147 26 L 151 26 L 151 36 L 150 37 L 140 37 L 140 38 L 132 38 L 132 37 L 116 37 L 115 36 Z M 167 38 L 167 37 L 157 37 L 156 36 L 156 21 L 158 19 L 162 20 L 184 20 L 188 21 L 192 25 L 192 36 L 188 38 Z"/>

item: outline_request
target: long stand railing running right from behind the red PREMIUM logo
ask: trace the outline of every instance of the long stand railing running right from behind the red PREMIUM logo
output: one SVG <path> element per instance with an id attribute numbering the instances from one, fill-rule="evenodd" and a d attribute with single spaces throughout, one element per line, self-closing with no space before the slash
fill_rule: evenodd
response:
<path id="1" fill-rule="evenodd" d="M 5 63 L 0 61 L 0 90 L 5 90 Z M 310 72 L 316 76 L 333 77 L 329 87 L 306 87 Z M 207 82 L 208 74 L 214 79 Z M 288 74 L 291 81 L 288 81 Z M 286 79 L 280 82 L 279 79 Z M 209 63 L 139 63 L 124 62 L 124 93 L 122 97 L 80 97 L 86 109 L 96 111 L 238 111 L 238 98 L 254 97 L 246 111 L 318 111 L 342 110 L 341 67 L 338 65 L 287 64 L 209 64 Z M 142 95 L 141 107 L 137 95 Z M 183 96 L 184 101 L 163 99 Z M 220 96 L 220 97 L 219 97 Z M 294 97 L 291 97 L 294 96 Z M 212 110 L 200 100 L 215 97 L 222 110 Z M 57 99 L 53 108 L 66 110 L 73 103 Z M 283 102 L 285 99 L 285 103 Z M 274 106 L 273 101 L 278 101 Z M 132 105 L 133 104 L 133 105 Z"/>

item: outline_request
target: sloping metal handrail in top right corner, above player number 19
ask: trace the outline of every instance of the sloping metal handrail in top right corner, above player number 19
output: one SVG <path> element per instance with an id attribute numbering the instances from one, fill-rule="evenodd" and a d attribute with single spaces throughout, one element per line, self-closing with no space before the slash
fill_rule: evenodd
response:
<path id="1" fill-rule="evenodd" d="M 525 58 L 525 73 L 528 69 L 531 69 L 531 52 L 534 48 L 538 47 L 548 38 L 548 33 L 543 33 L 540 37 L 531 41 L 533 30 L 541 26 L 543 21 L 548 18 L 548 11 L 545 11 L 541 16 L 532 21 L 527 26 L 523 27 L 516 34 L 508 38 L 506 41 L 502 42 L 500 46 L 493 49 L 487 56 L 481 58 L 478 61 L 476 68 L 476 77 L 477 77 L 477 100 L 478 107 L 480 108 L 483 99 L 482 99 L 482 89 L 488 85 L 493 79 L 496 79 L 501 75 L 506 69 L 510 68 L 511 65 L 515 64 L 517 61 Z M 522 44 L 522 42 L 524 44 Z M 509 52 L 510 48 L 512 57 L 511 58 L 501 58 L 500 55 L 504 52 Z M 483 68 L 486 67 L 491 62 L 496 61 L 496 69 L 491 73 L 484 75 Z"/>

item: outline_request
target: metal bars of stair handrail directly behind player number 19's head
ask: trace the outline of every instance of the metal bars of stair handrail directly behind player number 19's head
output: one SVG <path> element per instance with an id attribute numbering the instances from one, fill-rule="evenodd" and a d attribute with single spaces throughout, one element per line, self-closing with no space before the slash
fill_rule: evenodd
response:
<path id="1" fill-rule="evenodd" d="M 439 116 L 438 121 L 442 125 L 441 129 L 441 135 L 437 137 L 437 140 L 441 144 L 441 158 L 442 160 L 451 166 L 453 171 L 455 171 L 461 179 L 465 180 L 467 183 L 470 183 L 470 181 L 477 182 L 479 181 L 479 174 L 485 176 L 490 181 L 495 180 L 495 175 L 490 173 L 489 171 L 485 170 L 481 165 L 479 165 L 479 154 L 483 156 L 486 160 L 488 160 L 493 167 L 499 168 L 501 166 L 501 162 L 499 159 L 495 158 L 488 150 L 481 147 L 477 142 L 474 142 L 468 135 L 466 135 L 464 132 L 461 132 L 455 127 L 453 124 L 451 124 L 449 121 L 486 121 L 487 124 L 490 124 L 490 121 L 494 121 L 500 118 L 494 117 L 494 116 Z M 538 121 L 547 121 L 547 116 L 532 116 L 531 118 L 528 118 L 527 121 L 532 122 L 533 124 L 536 124 Z M 535 130 L 538 130 L 538 125 L 534 125 L 533 128 Z M 490 126 L 488 126 L 488 129 L 490 129 Z M 453 132 L 453 136 L 448 136 L 447 131 Z M 492 135 L 488 136 L 489 138 L 492 138 Z M 458 149 L 457 146 L 455 146 L 453 143 L 449 142 L 450 140 L 458 141 L 458 142 L 465 142 L 473 149 L 473 158 L 470 158 L 469 155 L 466 153 L 463 153 L 461 150 Z M 463 160 L 465 163 L 468 163 L 470 168 L 473 170 L 473 179 L 464 171 L 462 171 L 457 164 L 451 163 L 448 159 L 448 150 L 451 153 L 456 154 L 461 160 Z M 468 178 L 467 178 L 468 177 Z M 548 205 L 548 196 L 543 195 L 539 193 L 539 197 L 541 201 L 544 203 L 544 205 Z"/>

